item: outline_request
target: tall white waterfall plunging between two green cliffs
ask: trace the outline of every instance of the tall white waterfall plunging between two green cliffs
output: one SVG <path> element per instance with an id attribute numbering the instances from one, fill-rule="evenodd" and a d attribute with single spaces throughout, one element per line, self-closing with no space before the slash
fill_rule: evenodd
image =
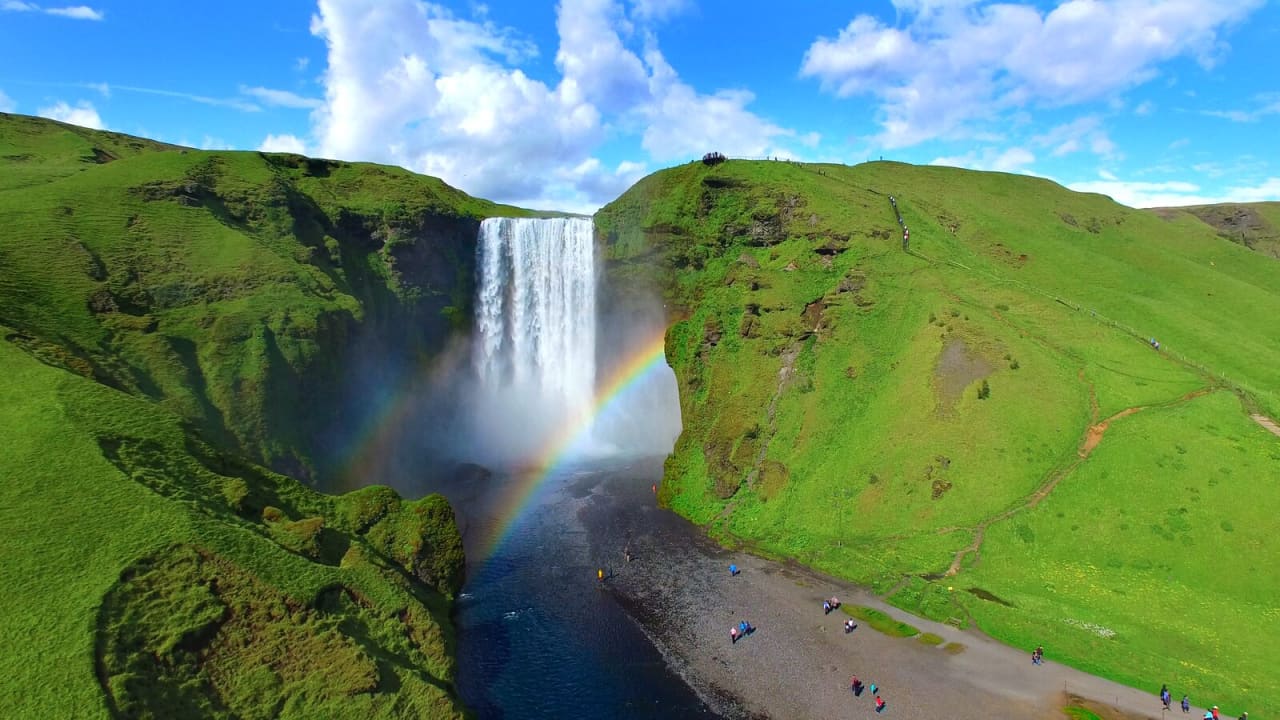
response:
<path id="1" fill-rule="evenodd" d="M 590 218 L 480 224 L 474 364 L 486 432 L 512 452 L 589 411 L 595 389 L 595 240 Z"/>

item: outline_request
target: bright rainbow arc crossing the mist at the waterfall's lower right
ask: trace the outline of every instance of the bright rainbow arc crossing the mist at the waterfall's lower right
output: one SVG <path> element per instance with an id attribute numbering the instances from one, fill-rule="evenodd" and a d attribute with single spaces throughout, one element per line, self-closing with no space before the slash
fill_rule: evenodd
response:
<path id="1" fill-rule="evenodd" d="M 552 433 L 541 452 L 534 456 L 526 469 L 513 475 L 512 483 L 498 501 L 498 527 L 489 538 L 486 555 L 493 555 L 502 546 L 538 488 L 568 460 L 577 445 L 591 430 L 596 418 L 626 396 L 627 391 L 641 384 L 641 380 L 655 369 L 666 366 L 664 351 L 666 334 L 663 332 L 634 347 L 604 378 L 604 382 L 596 382 L 590 406 L 576 418 L 564 421 Z"/>

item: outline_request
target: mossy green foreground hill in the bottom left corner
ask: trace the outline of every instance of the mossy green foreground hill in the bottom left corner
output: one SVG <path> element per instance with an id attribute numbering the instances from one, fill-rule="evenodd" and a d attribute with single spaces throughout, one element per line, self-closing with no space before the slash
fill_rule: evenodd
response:
<path id="1" fill-rule="evenodd" d="M 155 405 L 8 342 L 0 366 L 0 421 L 23 428 L 0 456 L 0 580 L 20 588 L 0 621 L 8 716 L 461 714 L 452 516 L 419 536 L 433 548 L 406 542 L 397 557 L 380 539 L 440 498 L 396 498 L 361 529 L 347 520 L 360 496 L 200 448 Z M 279 542 L 268 502 L 294 523 L 321 518 L 317 547 L 333 555 Z M 445 559 L 444 582 L 417 571 Z"/>

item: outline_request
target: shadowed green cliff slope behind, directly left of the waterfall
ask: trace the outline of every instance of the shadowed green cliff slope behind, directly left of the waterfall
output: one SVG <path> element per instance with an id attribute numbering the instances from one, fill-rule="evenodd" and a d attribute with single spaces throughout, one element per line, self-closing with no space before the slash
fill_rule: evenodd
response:
<path id="1" fill-rule="evenodd" d="M 317 438 L 360 333 L 406 338 L 410 363 L 443 347 L 470 316 L 476 223 L 524 213 L 398 168 L 18 115 L 0 168 L 0 322 L 303 477 L 330 470 Z"/>

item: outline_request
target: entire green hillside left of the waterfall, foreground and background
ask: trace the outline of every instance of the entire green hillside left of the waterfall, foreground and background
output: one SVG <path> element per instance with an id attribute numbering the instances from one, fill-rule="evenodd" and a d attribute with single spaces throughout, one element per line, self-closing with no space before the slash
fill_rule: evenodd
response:
<path id="1" fill-rule="evenodd" d="M 495 213 L 0 114 L 5 716 L 462 714 L 448 503 L 293 478 L 342 470 L 362 351 L 417 368 L 468 320 Z"/>

